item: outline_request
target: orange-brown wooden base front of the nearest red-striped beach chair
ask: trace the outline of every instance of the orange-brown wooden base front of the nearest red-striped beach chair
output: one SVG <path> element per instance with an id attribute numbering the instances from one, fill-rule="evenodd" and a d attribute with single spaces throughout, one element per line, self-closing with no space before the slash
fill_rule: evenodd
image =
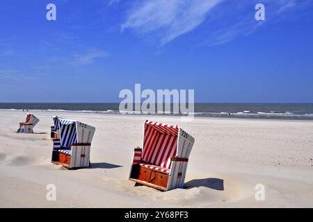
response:
<path id="1" fill-rule="evenodd" d="M 133 165 L 129 180 L 161 191 L 168 190 L 168 173 L 148 169 L 138 164 Z"/>

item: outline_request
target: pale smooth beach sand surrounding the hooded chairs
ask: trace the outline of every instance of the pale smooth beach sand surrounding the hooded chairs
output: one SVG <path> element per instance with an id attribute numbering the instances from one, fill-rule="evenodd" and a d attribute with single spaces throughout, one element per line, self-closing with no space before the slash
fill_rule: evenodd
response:
<path id="1" fill-rule="evenodd" d="M 18 134 L 22 111 L 0 112 L 0 207 L 313 207 L 313 121 L 33 112 L 34 134 Z M 92 167 L 50 163 L 51 116 L 96 127 Z M 128 180 L 145 119 L 177 123 L 195 137 L 186 189 L 158 191 Z M 47 185 L 56 185 L 48 201 Z M 265 200 L 255 199 L 255 186 Z"/>

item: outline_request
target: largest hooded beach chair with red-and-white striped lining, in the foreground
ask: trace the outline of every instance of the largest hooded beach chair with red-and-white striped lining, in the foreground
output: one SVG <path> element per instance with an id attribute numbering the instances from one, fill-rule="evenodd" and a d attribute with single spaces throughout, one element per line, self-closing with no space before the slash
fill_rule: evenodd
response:
<path id="1" fill-rule="evenodd" d="M 195 139 L 177 125 L 145 121 L 143 148 L 135 148 L 129 180 L 163 191 L 183 188 Z"/>

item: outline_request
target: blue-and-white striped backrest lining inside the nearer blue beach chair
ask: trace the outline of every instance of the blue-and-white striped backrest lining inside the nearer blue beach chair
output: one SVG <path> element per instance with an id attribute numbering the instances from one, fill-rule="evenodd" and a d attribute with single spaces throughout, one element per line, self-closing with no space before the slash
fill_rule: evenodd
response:
<path id="1" fill-rule="evenodd" d="M 70 148 L 77 143 L 76 121 L 59 119 L 61 146 Z"/>

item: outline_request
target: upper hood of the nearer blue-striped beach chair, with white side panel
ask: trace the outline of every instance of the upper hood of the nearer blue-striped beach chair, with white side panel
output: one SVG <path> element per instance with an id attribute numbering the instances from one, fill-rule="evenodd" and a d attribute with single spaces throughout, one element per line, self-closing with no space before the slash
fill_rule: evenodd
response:
<path id="1" fill-rule="evenodd" d="M 72 144 L 91 144 L 95 128 L 79 121 L 58 118 L 61 147 Z"/>

